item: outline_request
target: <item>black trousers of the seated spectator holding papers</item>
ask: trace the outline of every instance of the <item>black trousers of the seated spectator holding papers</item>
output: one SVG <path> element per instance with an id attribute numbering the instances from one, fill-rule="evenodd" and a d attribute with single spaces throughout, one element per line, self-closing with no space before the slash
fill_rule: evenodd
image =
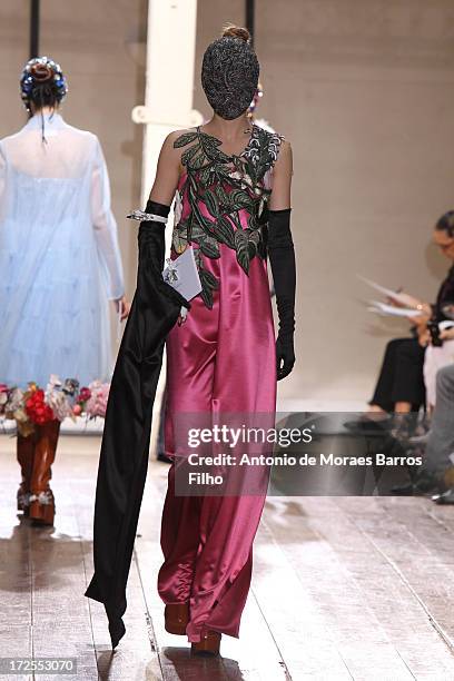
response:
<path id="1" fill-rule="evenodd" d="M 393 412 L 396 402 L 408 402 L 417 412 L 425 404 L 424 353 L 416 338 L 391 340 L 369 404 Z"/>

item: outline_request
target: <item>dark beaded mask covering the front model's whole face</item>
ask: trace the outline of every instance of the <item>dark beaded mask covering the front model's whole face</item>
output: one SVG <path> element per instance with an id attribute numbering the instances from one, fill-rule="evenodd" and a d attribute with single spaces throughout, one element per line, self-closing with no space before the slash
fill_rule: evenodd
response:
<path id="1" fill-rule="evenodd" d="M 218 38 L 207 47 L 201 85 L 218 116 L 233 120 L 249 108 L 259 70 L 254 49 L 241 38 Z"/>

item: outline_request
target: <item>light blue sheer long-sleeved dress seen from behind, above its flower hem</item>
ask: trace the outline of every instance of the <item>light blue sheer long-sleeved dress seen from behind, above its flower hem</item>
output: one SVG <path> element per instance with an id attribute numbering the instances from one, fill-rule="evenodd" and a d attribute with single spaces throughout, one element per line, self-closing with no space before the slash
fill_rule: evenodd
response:
<path id="1" fill-rule="evenodd" d="M 61 115 L 45 115 L 47 144 L 41 124 L 0 140 L 0 383 L 108 381 L 125 288 L 105 158 Z"/>

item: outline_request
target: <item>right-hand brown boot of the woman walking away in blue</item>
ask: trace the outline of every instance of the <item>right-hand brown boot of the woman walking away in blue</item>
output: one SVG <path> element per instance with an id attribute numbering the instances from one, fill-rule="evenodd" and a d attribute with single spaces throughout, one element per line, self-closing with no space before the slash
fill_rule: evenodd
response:
<path id="1" fill-rule="evenodd" d="M 37 524 L 53 525 L 56 504 L 49 486 L 51 465 L 56 457 L 60 422 L 49 421 L 37 425 L 29 517 Z"/>

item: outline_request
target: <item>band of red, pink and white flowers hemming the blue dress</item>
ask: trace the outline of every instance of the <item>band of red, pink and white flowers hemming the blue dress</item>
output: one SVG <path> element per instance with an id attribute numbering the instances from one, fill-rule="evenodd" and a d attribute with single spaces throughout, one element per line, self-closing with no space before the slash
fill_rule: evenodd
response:
<path id="1" fill-rule="evenodd" d="M 52 374 L 46 391 L 30 382 L 27 389 L 0 384 L 0 417 L 16 421 L 21 435 L 30 435 L 37 425 L 49 421 L 63 421 L 77 416 L 105 417 L 109 397 L 109 383 L 91 382 L 79 387 L 76 378 L 63 383 Z"/>

